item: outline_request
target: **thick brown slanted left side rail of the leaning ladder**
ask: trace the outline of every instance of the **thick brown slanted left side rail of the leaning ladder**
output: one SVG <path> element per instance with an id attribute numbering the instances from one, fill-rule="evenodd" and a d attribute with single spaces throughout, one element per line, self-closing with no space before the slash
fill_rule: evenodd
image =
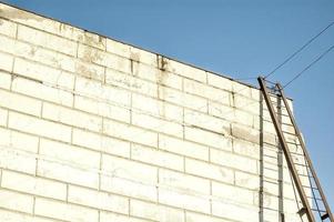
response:
<path id="1" fill-rule="evenodd" d="M 289 152 L 289 147 L 287 147 L 287 143 L 286 143 L 285 138 L 283 135 L 283 131 L 282 131 L 281 125 L 279 123 L 277 117 L 275 115 L 274 108 L 273 108 L 272 101 L 270 99 L 269 92 L 266 90 L 266 85 L 264 83 L 264 80 L 263 80 L 263 78 L 260 77 L 257 79 L 257 81 L 259 81 L 261 90 L 263 92 L 264 100 L 265 100 L 265 102 L 267 104 L 267 108 L 269 108 L 271 118 L 273 120 L 273 123 L 274 123 L 277 137 L 280 139 L 281 144 L 282 144 L 282 148 L 283 148 L 283 151 L 284 151 L 284 154 L 285 154 L 285 158 L 286 158 L 287 167 L 289 167 L 289 169 L 292 172 L 292 176 L 293 176 L 293 179 L 295 181 L 296 189 L 297 189 L 298 194 L 301 196 L 302 203 L 303 203 L 303 205 L 305 208 L 307 219 L 308 219 L 310 222 L 315 222 L 315 218 L 314 218 L 314 215 L 312 213 L 312 209 L 311 209 L 310 203 L 307 201 L 305 191 L 304 191 L 304 189 L 302 186 L 301 179 L 298 178 L 297 171 L 296 171 L 296 169 L 295 169 L 295 167 L 293 164 L 292 155 Z"/>

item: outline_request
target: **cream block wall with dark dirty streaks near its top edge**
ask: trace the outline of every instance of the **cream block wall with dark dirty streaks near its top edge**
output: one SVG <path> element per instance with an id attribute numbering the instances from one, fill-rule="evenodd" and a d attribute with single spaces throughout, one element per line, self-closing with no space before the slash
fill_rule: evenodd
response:
<path id="1" fill-rule="evenodd" d="M 7 4 L 0 17 L 0 221 L 279 221 L 257 89 Z"/>

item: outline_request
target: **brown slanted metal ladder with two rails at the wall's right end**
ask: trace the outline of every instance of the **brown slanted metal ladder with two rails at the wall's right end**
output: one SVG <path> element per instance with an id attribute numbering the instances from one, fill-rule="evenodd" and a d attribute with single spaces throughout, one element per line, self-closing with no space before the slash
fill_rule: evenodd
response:
<path id="1" fill-rule="evenodd" d="M 260 83 L 260 88 L 263 98 L 265 100 L 265 103 L 267 105 L 272 122 L 275 127 L 275 131 L 277 133 L 279 141 L 282 147 L 284 157 L 286 159 L 289 170 L 292 174 L 293 182 L 296 186 L 298 196 L 302 202 L 302 208 L 298 211 L 300 215 L 303 216 L 304 214 L 306 214 L 307 220 L 310 222 L 322 222 L 322 221 L 334 222 L 333 214 L 331 213 L 330 205 L 326 201 L 320 181 L 316 176 L 304 140 L 296 125 L 292 111 L 289 107 L 287 100 L 284 97 L 283 88 L 281 87 L 280 83 L 275 83 L 274 88 L 271 89 L 267 88 L 266 81 L 262 77 L 259 77 L 257 81 Z M 281 100 L 283 100 L 283 105 L 284 105 L 283 108 L 286 111 L 286 115 L 290 121 L 290 124 L 294 129 L 293 135 L 296 137 L 296 140 L 298 142 L 298 147 L 300 147 L 298 152 L 292 151 L 292 149 L 290 149 L 289 142 L 286 140 L 289 132 L 282 129 L 282 124 L 279 122 L 279 117 L 274 110 L 274 104 L 271 97 L 272 98 L 279 97 Z M 302 163 L 297 161 L 300 160 L 298 157 L 302 157 L 303 159 Z"/>

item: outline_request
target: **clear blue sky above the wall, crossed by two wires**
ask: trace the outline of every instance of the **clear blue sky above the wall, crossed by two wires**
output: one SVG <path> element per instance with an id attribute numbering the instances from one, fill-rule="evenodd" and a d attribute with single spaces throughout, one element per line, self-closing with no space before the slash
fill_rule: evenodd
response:
<path id="1" fill-rule="evenodd" d="M 334 0 L 7 2 L 232 78 L 269 73 L 334 21 Z M 334 26 L 271 80 L 285 83 L 333 44 Z M 334 50 L 286 89 L 332 210 L 333 84 Z"/>

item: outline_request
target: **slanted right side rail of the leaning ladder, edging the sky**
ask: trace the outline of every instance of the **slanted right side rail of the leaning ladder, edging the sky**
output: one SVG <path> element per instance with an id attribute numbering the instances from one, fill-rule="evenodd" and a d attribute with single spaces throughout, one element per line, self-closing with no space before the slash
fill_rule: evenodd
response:
<path id="1" fill-rule="evenodd" d="M 290 107 L 289 107 L 289 104 L 287 104 L 287 100 L 286 100 L 286 98 L 284 97 L 283 88 L 282 88 L 282 85 L 281 85 L 280 83 L 277 83 L 276 85 L 277 85 L 277 88 L 279 88 L 279 90 L 280 90 L 280 94 L 282 95 L 282 99 L 283 99 L 285 109 L 286 109 L 286 111 L 287 111 L 287 113 L 289 113 L 289 117 L 290 117 L 290 119 L 291 119 L 291 122 L 292 122 L 292 124 L 293 124 L 293 127 L 294 127 L 294 129 L 295 129 L 295 132 L 296 132 L 296 134 L 297 134 L 297 138 L 298 138 L 298 140 L 300 140 L 301 148 L 302 148 L 303 153 L 304 153 L 304 155 L 305 155 L 305 158 L 306 158 L 308 168 L 310 168 L 311 173 L 312 173 L 312 175 L 313 175 L 313 180 L 314 180 L 314 182 L 315 182 L 315 184 L 316 184 L 316 186 L 317 186 L 317 189 L 318 189 L 318 192 L 320 192 L 320 194 L 321 194 L 321 196 L 322 196 L 322 199 L 323 199 L 323 202 L 324 202 L 324 205 L 325 205 L 326 211 L 327 211 L 327 213 L 328 213 L 330 220 L 331 220 L 331 222 L 334 222 L 334 218 L 333 218 L 333 214 L 332 214 L 332 212 L 331 212 L 330 205 L 328 205 L 328 203 L 327 203 L 327 201 L 326 201 L 326 198 L 325 198 L 325 194 L 324 194 L 324 192 L 323 192 L 323 190 L 322 190 L 320 180 L 318 180 L 318 178 L 317 178 L 317 175 L 316 175 L 316 173 L 315 173 L 315 170 L 314 170 L 314 168 L 313 168 L 311 158 L 310 158 L 308 152 L 307 152 L 307 150 L 306 150 L 305 142 L 304 142 L 304 140 L 303 140 L 303 138 L 302 138 L 301 131 L 300 131 L 300 129 L 298 129 L 298 127 L 297 127 L 297 124 L 296 124 L 296 121 L 295 121 L 295 119 L 294 119 L 294 117 L 293 117 L 293 114 L 292 114 L 292 111 L 291 111 L 291 109 L 290 109 Z"/>

